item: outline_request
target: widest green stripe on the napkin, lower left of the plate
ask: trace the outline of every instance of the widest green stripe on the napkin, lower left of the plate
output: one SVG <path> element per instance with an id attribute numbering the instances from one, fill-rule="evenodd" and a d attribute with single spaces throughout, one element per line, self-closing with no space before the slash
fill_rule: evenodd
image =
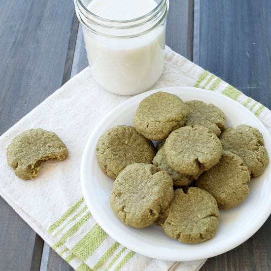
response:
<path id="1" fill-rule="evenodd" d="M 93 228 L 71 249 L 81 261 L 85 261 L 101 245 L 107 234 L 95 224 Z"/>

